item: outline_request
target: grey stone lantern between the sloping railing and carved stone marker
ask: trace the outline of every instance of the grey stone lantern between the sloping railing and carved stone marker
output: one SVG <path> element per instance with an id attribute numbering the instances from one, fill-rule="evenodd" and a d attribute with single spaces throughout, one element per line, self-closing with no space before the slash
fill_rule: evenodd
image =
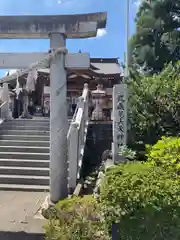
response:
<path id="1" fill-rule="evenodd" d="M 91 92 L 92 102 L 95 106 L 92 112 L 92 120 L 105 120 L 105 115 L 103 113 L 103 106 L 106 100 L 106 91 L 103 90 L 102 85 L 98 84 L 97 89 Z"/>

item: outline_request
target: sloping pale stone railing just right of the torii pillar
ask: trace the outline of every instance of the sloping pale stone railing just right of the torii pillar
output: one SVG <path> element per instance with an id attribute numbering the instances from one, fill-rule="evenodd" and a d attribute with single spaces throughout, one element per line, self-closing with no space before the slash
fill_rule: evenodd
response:
<path id="1" fill-rule="evenodd" d="M 75 189 L 80 177 L 89 121 L 88 112 L 89 90 L 88 84 L 85 84 L 67 135 L 70 191 Z"/>

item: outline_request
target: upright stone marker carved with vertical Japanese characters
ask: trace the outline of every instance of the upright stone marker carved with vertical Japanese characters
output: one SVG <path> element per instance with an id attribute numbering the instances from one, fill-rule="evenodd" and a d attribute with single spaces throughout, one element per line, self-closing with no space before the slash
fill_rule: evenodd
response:
<path id="1" fill-rule="evenodd" d="M 113 161 L 117 162 L 119 148 L 127 143 L 127 85 L 113 87 Z"/>

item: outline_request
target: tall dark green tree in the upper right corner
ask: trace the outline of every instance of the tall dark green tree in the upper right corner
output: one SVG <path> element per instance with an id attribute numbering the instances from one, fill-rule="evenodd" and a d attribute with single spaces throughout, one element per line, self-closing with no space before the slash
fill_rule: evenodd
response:
<path id="1" fill-rule="evenodd" d="M 175 3 L 174 3 L 175 2 Z M 143 0 L 129 42 L 130 66 L 151 73 L 180 59 L 180 0 Z"/>

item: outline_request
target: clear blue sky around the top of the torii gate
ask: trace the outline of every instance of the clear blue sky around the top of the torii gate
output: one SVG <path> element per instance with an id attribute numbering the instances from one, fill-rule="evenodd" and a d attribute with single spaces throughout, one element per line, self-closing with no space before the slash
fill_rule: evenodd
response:
<path id="1" fill-rule="evenodd" d="M 130 0 L 130 33 L 134 32 L 137 2 Z M 0 15 L 48 15 L 107 11 L 106 30 L 98 37 L 68 40 L 69 52 L 90 52 L 91 57 L 119 57 L 125 51 L 126 0 L 0 0 Z M 47 51 L 48 40 L 0 40 L 0 52 Z M 4 71 L 0 71 L 0 76 Z"/>

